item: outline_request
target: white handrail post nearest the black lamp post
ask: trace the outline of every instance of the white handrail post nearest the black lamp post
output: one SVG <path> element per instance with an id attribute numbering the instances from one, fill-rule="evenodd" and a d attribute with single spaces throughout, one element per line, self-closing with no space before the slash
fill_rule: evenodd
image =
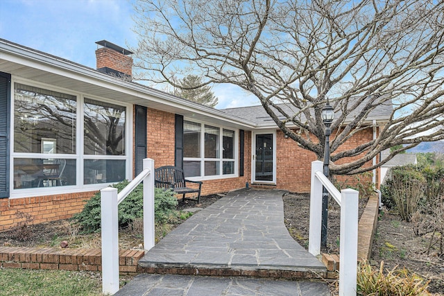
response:
<path id="1" fill-rule="evenodd" d="M 310 225 L 308 252 L 314 256 L 321 254 L 321 215 L 322 212 L 322 183 L 316 177 L 316 171 L 323 170 L 323 162 L 311 162 L 310 190 Z"/>

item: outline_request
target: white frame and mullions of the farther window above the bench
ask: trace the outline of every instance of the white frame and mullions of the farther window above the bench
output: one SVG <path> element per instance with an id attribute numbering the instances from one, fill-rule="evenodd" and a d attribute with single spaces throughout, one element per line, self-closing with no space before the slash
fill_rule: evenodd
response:
<path id="1" fill-rule="evenodd" d="M 184 118 L 185 121 L 191 121 L 193 123 L 200 123 L 200 157 L 183 157 L 183 161 L 194 161 L 200 162 L 200 176 L 187 177 L 189 180 L 193 181 L 203 181 L 203 180 L 218 180 L 218 179 L 228 179 L 232 177 L 239 177 L 239 130 L 236 128 L 229 128 L 223 125 L 216 125 L 214 123 L 209 123 L 205 121 L 196 121 L 194 119 Z M 206 158 L 205 157 L 205 125 L 210 125 L 214 128 L 219 128 L 219 158 Z M 232 130 L 234 132 L 234 159 L 223 158 L 223 129 Z M 185 143 L 184 143 L 185 146 Z M 207 162 L 218 162 L 219 161 L 219 175 L 209 175 L 205 176 L 205 161 Z M 232 174 L 223 175 L 223 162 L 234 162 L 234 172 Z M 186 172 L 185 172 L 186 175 Z"/>

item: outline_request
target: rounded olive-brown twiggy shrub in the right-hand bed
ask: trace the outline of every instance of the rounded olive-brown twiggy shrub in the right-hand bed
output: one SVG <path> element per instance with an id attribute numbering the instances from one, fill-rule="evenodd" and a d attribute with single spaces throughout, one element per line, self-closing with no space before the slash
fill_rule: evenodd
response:
<path id="1" fill-rule="evenodd" d="M 383 202 L 389 209 L 393 206 L 401 218 L 410 221 L 418 210 L 420 201 L 425 197 L 425 177 L 420 168 L 415 166 L 397 166 L 391 168 L 382 185 Z"/>

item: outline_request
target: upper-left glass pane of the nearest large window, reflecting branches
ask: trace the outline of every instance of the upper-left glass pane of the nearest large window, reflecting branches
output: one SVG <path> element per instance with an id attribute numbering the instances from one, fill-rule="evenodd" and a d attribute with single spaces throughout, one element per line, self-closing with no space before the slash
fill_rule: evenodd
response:
<path id="1" fill-rule="evenodd" d="M 14 151 L 76 153 L 76 96 L 14 85 Z M 51 139 L 52 149 L 45 145 Z"/>

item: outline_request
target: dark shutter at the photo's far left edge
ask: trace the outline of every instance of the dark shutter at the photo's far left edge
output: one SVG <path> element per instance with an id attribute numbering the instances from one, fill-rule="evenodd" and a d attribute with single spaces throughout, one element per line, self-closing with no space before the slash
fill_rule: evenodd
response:
<path id="1" fill-rule="evenodd" d="M 0 72 L 0 198 L 9 197 L 10 89 L 10 74 Z"/>

